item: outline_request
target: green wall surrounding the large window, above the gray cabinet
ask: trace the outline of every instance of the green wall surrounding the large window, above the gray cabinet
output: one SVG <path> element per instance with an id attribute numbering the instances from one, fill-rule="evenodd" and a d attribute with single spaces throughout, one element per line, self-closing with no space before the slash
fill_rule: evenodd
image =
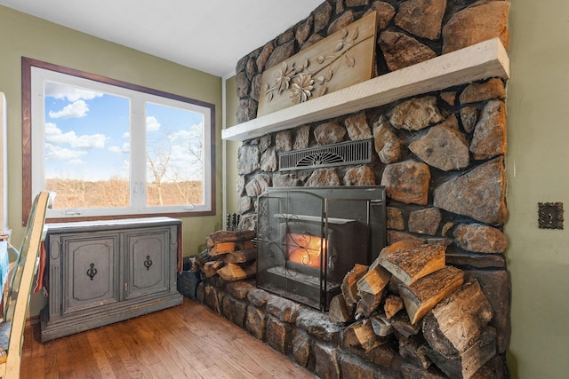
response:
<path id="1" fill-rule="evenodd" d="M 183 218 L 184 255 L 194 255 L 205 238 L 221 228 L 221 78 L 164 59 L 108 43 L 0 6 L 0 91 L 8 114 L 8 225 L 12 243 L 19 245 L 21 227 L 21 57 L 40 59 L 89 73 L 108 76 L 156 90 L 172 92 L 215 105 L 216 216 Z M 196 51 L 199 53 L 199 51 Z M 44 306 L 31 299 L 30 316 Z"/>

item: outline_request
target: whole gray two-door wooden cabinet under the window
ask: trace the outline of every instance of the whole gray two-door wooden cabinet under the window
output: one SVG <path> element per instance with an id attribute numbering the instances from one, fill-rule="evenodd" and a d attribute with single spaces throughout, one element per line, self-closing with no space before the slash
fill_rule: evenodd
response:
<path id="1" fill-rule="evenodd" d="M 180 227 L 169 217 L 48 224 L 41 340 L 181 304 Z"/>

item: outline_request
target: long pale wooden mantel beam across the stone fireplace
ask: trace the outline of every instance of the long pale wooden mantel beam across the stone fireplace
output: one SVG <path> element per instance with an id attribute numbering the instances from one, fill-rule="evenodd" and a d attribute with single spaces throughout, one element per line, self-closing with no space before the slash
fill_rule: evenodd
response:
<path id="1" fill-rule="evenodd" d="M 240 123 L 222 130 L 221 138 L 244 141 L 491 77 L 509 78 L 508 53 L 498 38 Z"/>

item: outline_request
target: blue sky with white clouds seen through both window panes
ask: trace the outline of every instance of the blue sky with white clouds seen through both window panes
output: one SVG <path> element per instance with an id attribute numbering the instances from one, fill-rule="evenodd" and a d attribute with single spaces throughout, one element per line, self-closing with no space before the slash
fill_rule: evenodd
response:
<path id="1" fill-rule="evenodd" d="M 148 103 L 149 150 L 169 152 L 169 178 L 196 177 L 201 114 Z M 66 84 L 45 85 L 45 178 L 129 178 L 129 99 Z M 170 141 L 170 143 L 168 143 Z M 150 179 L 150 178 L 148 178 Z"/>

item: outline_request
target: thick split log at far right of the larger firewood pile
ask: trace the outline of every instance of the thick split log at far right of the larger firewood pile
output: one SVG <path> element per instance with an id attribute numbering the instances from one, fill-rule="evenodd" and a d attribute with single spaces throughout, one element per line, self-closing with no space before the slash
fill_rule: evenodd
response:
<path id="1" fill-rule="evenodd" d="M 433 349 L 453 355 L 465 351 L 491 319 L 492 305 L 478 280 L 471 280 L 427 313 L 423 335 Z"/>

